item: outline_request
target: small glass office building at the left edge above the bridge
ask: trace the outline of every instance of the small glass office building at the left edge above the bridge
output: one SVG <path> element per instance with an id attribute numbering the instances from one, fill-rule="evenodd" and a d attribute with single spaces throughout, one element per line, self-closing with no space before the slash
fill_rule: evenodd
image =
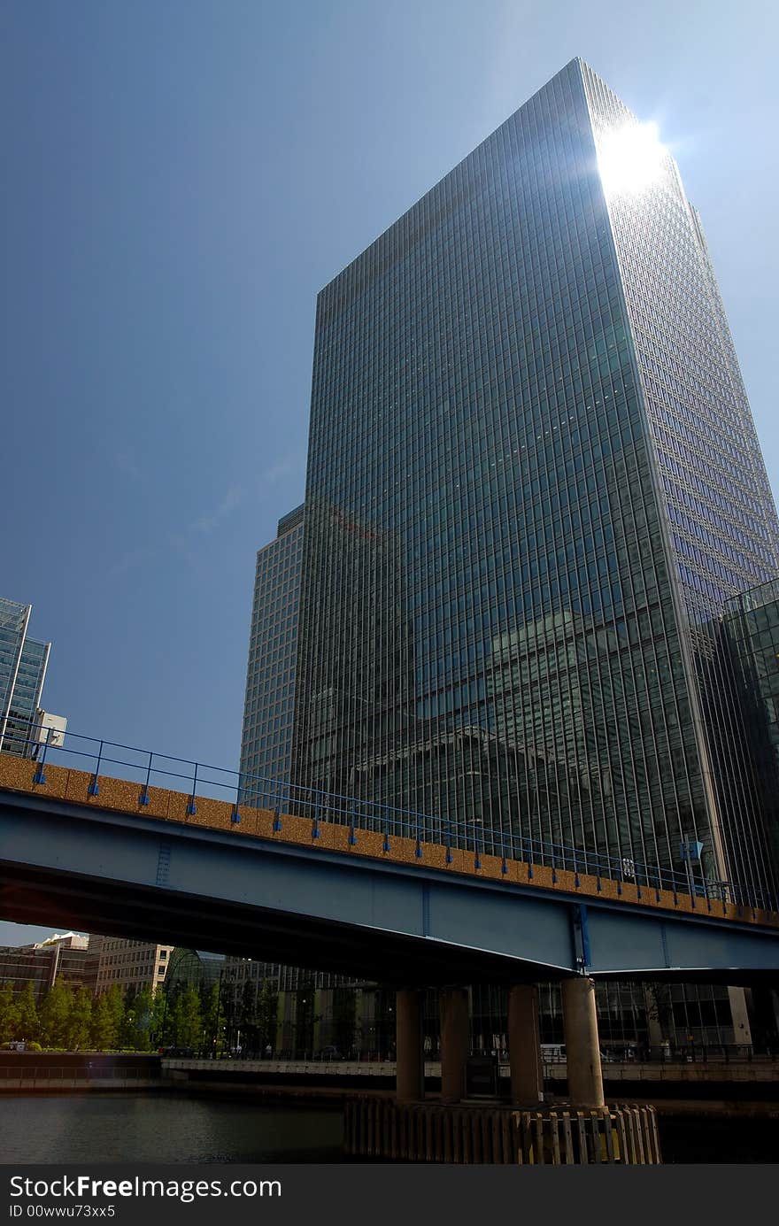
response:
<path id="1" fill-rule="evenodd" d="M 0 597 L 0 750 L 29 758 L 37 742 L 61 744 L 67 721 L 40 710 L 50 642 L 27 636 L 32 604 Z"/>

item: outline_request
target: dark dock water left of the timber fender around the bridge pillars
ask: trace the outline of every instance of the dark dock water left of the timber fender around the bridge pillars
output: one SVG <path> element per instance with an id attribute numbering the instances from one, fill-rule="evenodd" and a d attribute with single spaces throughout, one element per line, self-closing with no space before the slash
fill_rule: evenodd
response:
<path id="1" fill-rule="evenodd" d="M 166 1094 L 0 1097 L 0 1162 L 342 1162 L 340 1110 Z"/>

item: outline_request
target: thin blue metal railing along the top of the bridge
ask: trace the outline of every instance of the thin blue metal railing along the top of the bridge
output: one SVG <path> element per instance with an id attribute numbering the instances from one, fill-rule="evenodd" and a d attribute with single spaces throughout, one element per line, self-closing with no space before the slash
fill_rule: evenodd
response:
<path id="1" fill-rule="evenodd" d="M 99 796 L 101 780 L 104 777 L 137 782 L 137 803 L 141 808 L 150 804 L 152 787 L 175 787 L 186 796 L 185 813 L 190 817 L 198 812 L 199 798 L 226 799 L 232 802 L 232 820 L 236 825 L 240 824 L 242 807 L 263 808 L 274 812 L 275 831 L 281 831 L 283 814 L 309 818 L 313 840 L 319 837 L 321 821 L 335 821 L 348 826 L 351 845 L 356 845 L 361 830 L 383 835 L 384 851 L 391 850 L 391 840 L 395 837 L 415 840 L 418 858 L 423 856 L 424 843 L 437 843 L 447 848 L 447 863 L 451 863 L 454 851 L 472 853 L 476 869 L 481 867 L 481 856 L 496 856 L 502 861 L 503 873 L 508 873 L 510 861 L 526 864 L 529 880 L 532 879 L 535 868 L 543 867 L 551 869 L 553 883 L 559 872 L 572 873 L 577 886 L 580 874 L 591 877 L 599 891 L 602 880 L 615 881 L 618 896 L 623 885 L 629 884 L 635 886 L 638 899 L 642 899 L 644 891 L 654 891 L 659 901 L 660 890 L 666 890 L 673 895 L 675 901 L 678 895 L 689 896 L 693 907 L 708 912 L 715 911 L 718 904 L 723 912 L 726 904 L 752 913 L 757 910 L 779 910 L 777 899 L 766 890 L 739 881 L 707 878 L 692 863 L 680 872 L 635 859 L 629 848 L 613 856 L 530 837 L 516 830 L 485 830 L 474 821 L 433 817 L 361 797 L 299 787 L 247 771 L 137 749 L 76 732 L 58 733 L 58 737 L 61 737 L 63 743 L 56 745 L 42 741 L 27 742 L 25 756 L 36 761 L 36 785 L 45 783 L 47 764 L 80 765 L 81 769 L 90 764 L 86 769 L 91 774 L 91 796 Z"/>

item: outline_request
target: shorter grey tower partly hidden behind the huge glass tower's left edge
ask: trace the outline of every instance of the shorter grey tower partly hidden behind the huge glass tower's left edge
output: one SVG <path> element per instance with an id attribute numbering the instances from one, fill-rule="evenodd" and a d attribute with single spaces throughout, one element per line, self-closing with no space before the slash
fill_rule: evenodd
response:
<path id="1" fill-rule="evenodd" d="M 297 506 L 256 555 L 240 738 L 244 804 L 271 803 L 267 788 L 253 780 L 290 782 L 302 542 L 303 506 Z"/>

